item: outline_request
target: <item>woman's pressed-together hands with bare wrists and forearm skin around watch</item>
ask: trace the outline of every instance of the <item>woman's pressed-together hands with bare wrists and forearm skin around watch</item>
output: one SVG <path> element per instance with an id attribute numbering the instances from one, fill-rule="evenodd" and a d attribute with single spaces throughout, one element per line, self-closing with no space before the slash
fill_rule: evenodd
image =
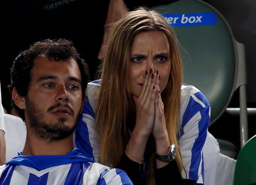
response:
<path id="1" fill-rule="evenodd" d="M 142 91 L 136 101 L 136 124 L 128 142 L 130 151 L 125 150 L 131 160 L 144 157 L 146 143 L 151 133 L 155 139 L 157 153 L 167 154 L 169 151 L 170 142 L 164 119 L 159 79 L 158 70 L 146 70 Z M 156 164 L 157 168 L 167 165 L 159 160 Z"/>

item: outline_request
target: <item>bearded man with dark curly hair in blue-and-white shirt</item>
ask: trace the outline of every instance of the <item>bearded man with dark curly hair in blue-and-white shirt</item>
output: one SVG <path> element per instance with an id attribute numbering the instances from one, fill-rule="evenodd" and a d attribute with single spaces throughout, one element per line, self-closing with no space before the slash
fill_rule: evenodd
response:
<path id="1" fill-rule="evenodd" d="M 37 42 L 15 58 L 9 88 L 27 138 L 23 152 L 0 167 L 1 185 L 132 184 L 122 170 L 73 148 L 88 79 L 87 65 L 64 39 Z"/>

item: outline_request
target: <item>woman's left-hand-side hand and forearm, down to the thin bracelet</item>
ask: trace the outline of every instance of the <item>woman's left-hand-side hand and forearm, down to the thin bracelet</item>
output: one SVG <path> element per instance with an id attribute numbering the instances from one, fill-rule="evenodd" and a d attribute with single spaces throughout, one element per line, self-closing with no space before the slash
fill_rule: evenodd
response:
<path id="1" fill-rule="evenodd" d="M 145 81 L 142 91 L 136 101 L 136 124 L 128 143 L 125 154 L 137 163 L 143 160 L 146 143 L 152 133 L 155 120 L 155 95 L 157 94 L 156 74 L 151 69 L 145 72 Z M 158 93 L 159 94 L 159 93 Z"/>

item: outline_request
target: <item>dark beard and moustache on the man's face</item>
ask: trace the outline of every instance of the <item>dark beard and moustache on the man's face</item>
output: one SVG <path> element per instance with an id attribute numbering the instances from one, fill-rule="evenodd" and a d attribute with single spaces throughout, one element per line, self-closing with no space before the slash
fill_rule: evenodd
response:
<path id="1" fill-rule="evenodd" d="M 71 116 L 75 118 L 74 124 L 71 126 L 66 124 L 67 118 L 60 118 L 57 122 L 45 122 L 44 119 L 46 116 L 44 111 L 37 108 L 36 105 L 30 101 L 28 97 L 26 97 L 26 110 L 29 118 L 29 126 L 34 134 L 46 142 L 54 142 L 65 139 L 66 137 L 70 136 L 75 129 L 79 112 L 74 114 L 74 110 L 69 107 L 68 104 L 58 103 L 50 107 L 47 112 L 50 112 L 51 110 L 60 106 L 67 107 L 71 112 Z"/>

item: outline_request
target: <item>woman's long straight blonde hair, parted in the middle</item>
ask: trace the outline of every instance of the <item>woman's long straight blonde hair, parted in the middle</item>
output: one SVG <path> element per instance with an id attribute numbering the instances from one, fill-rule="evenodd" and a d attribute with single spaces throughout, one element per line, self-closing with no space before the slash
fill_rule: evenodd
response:
<path id="1" fill-rule="evenodd" d="M 142 31 L 162 31 L 170 45 L 171 67 L 167 87 L 161 93 L 170 143 L 176 145 L 176 161 L 184 169 L 178 147 L 180 130 L 179 110 L 181 101 L 182 63 L 172 28 L 154 10 L 140 8 L 129 12 L 113 25 L 105 57 L 101 66 L 101 87 L 98 97 L 95 129 L 100 138 L 99 163 L 116 167 L 129 140 L 126 125 L 128 102 L 128 61 L 133 39 Z M 152 151 L 153 154 L 153 151 Z M 154 157 L 152 157 L 151 166 Z M 154 171 L 148 173 L 154 176 Z M 154 184 L 154 177 L 148 174 Z"/>

